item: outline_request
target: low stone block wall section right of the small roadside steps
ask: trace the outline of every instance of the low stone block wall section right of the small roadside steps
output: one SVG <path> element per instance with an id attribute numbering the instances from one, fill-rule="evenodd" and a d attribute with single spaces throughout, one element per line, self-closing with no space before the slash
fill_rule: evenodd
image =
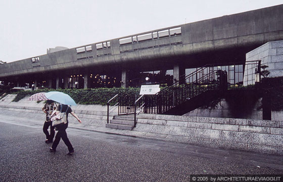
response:
<path id="1" fill-rule="evenodd" d="M 283 121 L 140 114 L 133 130 L 174 142 L 283 154 Z"/>

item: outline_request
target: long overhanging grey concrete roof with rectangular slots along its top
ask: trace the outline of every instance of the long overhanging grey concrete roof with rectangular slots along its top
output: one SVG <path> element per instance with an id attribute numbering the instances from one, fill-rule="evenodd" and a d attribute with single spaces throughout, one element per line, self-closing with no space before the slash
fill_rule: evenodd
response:
<path id="1" fill-rule="evenodd" d="M 162 67 L 182 62 L 187 66 L 205 65 L 217 61 L 245 61 L 245 53 L 268 41 L 283 39 L 283 5 L 167 27 L 103 42 L 110 48 L 97 49 L 100 43 L 83 45 L 91 51 L 77 53 L 77 48 L 0 65 L 0 78 L 9 76 L 68 70 L 87 67 L 132 67 L 137 64 Z M 120 41 L 133 36 L 146 37 L 166 34 L 163 30 L 180 27 L 181 34 L 121 45 Z M 172 30 L 171 32 L 173 32 Z M 178 30 L 177 30 L 178 31 Z M 122 39 L 122 40 L 121 40 Z M 142 39 L 142 38 L 141 38 Z M 79 50 L 79 49 L 78 49 Z"/>

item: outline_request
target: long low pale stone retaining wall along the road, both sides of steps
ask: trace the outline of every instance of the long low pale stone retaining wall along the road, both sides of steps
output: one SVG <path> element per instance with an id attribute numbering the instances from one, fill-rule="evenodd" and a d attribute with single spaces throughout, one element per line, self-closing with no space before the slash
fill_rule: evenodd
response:
<path id="1" fill-rule="evenodd" d="M 38 105 L 35 102 L 25 106 L 23 101 L 17 104 L 4 104 L 3 100 L 0 101 L 0 114 L 29 117 L 39 124 L 45 119 L 41 108 L 42 103 Z M 283 121 L 139 114 L 136 127 L 129 131 L 106 128 L 107 111 L 103 109 L 104 106 L 80 105 L 72 108 L 83 124 L 79 124 L 74 117 L 69 117 L 71 127 L 214 148 L 283 155 Z M 114 114 L 117 113 L 112 113 L 110 119 Z"/>

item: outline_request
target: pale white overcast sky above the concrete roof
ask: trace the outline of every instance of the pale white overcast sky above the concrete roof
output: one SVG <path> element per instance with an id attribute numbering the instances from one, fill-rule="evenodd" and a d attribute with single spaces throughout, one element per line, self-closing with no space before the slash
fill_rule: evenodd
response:
<path id="1" fill-rule="evenodd" d="M 2 0 L 0 60 L 282 4 L 282 0 Z"/>

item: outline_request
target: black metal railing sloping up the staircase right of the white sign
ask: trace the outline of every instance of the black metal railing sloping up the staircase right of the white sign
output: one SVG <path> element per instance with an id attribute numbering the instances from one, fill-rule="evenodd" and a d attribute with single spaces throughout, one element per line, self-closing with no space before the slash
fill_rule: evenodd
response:
<path id="1" fill-rule="evenodd" d="M 171 108 L 198 96 L 208 90 L 215 90 L 221 87 L 221 82 L 223 89 L 227 87 L 224 84 L 223 77 L 225 74 L 223 71 L 214 70 L 211 72 L 205 72 L 205 69 L 199 69 L 205 74 L 200 75 L 199 72 L 193 72 L 192 74 L 186 76 L 186 80 L 190 82 L 182 83 L 175 82 L 172 86 L 169 86 L 159 93 L 153 96 L 147 96 L 145 98 L 145 113 L 150 114 L 162 114 Z M 201 76 L 201 77 L 200 77 Z"/>

